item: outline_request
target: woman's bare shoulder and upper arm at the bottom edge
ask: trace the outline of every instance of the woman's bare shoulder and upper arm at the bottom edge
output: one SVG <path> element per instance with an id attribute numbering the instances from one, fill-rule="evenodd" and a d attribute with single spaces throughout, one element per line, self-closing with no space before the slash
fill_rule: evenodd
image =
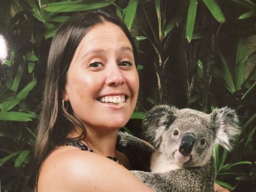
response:
<path id="1" fill-rule="evenodd" d="M 142 191 L 144 183 L 123 166 L 89 151 L 58 147 L 47 157 L 38 178 L 38 192 Z"/>

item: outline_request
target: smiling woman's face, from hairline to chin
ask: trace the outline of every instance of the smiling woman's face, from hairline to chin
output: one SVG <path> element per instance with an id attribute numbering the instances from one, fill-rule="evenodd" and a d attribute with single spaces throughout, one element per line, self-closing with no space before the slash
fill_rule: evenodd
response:
<path id="1" fill-rule="evenodd" d="M 86 126 L 117 129 L 134 111 L 139 91 L 132 46 L 114 23 L 93 26 L 83 37 L 67 71 L 63 99 Z M 125 102 L 125 106 L 116 102 Z"/>

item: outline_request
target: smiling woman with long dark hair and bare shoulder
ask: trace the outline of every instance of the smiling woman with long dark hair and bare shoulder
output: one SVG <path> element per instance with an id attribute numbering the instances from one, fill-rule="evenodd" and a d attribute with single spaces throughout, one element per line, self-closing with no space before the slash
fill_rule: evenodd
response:
<path id="1" fill-rule="evenodd" d="M 115 149 L 117 130 L 136 105 L 136 62 L 130 33 L 116 16 L 77 14 L 58 30 L 36 141 L 38 192 L 152 191 Z"/>

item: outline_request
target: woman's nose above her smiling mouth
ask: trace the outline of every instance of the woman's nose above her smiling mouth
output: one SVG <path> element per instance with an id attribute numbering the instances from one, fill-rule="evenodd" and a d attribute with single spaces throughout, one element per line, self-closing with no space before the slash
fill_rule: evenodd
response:
<path id="1" fill-rule="evenodd" d="M 124 71 L 122 71 L 117 65 L 110 65 L 107 72 L 106 84 L 109 86 L 119 86 L 124 83 Z"/>

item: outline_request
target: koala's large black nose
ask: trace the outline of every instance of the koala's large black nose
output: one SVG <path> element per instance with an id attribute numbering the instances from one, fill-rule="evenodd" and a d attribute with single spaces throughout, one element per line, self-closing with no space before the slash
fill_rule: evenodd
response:
<path id="1" fill-rule="evenodd" d="M 181 140 L 180 144 L 180 153 L 188 156 L 192 151 L 192 148 L 195 144 L 195 136 L 193 134 L 185 134 Z"/>

